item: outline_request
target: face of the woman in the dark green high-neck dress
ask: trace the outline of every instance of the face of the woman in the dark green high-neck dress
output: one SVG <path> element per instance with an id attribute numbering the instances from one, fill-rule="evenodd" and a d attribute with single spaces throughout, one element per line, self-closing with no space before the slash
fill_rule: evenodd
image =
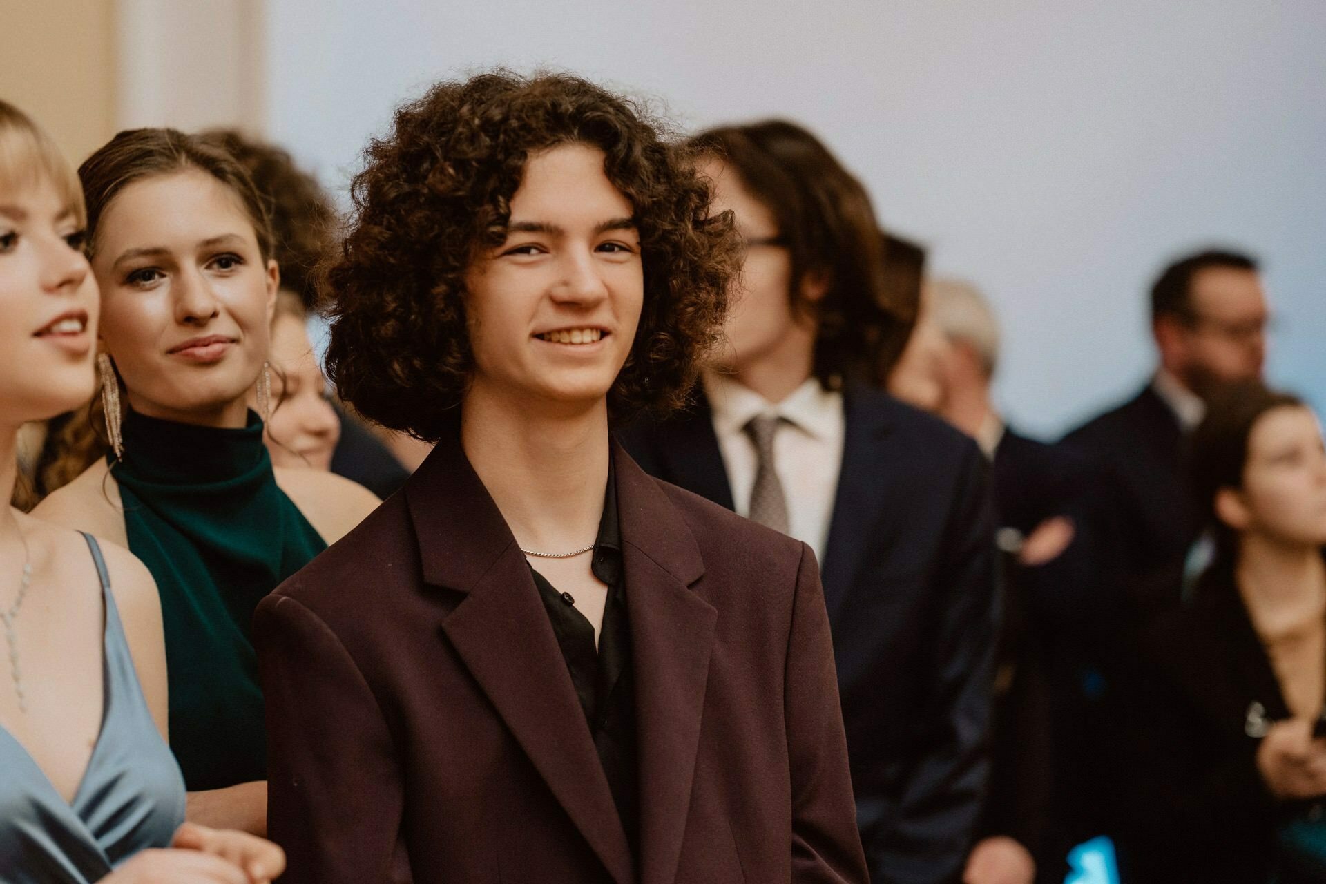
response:
<path id="1" fill-rule="evenodd" d="M 240 197 L 184 170 L 125 187 L 103 212 L 93 270 L 105 350 L 130 406 L 239 427 L 268 353 L 277 269 Z"/>

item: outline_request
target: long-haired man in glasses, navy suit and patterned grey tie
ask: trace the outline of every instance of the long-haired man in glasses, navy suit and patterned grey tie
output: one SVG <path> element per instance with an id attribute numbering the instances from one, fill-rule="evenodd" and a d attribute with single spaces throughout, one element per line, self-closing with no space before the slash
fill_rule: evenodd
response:
<path id="1" fill-rule="evenodd" d="M 621 439 L 655 476 L 815 549 L 873 880 L 956 881 L 985 782 L 997 618 L 984 460 L 853 379 L 898 317 L 855 179 L 790 123 L 695 144 L 747 244 L 728 349 L 693 408 Z"/>

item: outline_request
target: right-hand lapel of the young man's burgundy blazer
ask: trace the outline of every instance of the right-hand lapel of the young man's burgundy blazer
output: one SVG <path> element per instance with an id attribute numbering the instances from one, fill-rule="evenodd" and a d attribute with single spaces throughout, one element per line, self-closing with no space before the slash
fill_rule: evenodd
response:
<path id="1" fill-rule="evenodd" d="M 704 562 L 684 520 L 621 447 L 614 459 L 635 673 L 640 881 L 666 884 L 682 855 L 717 612 L 688 588 Z"/>

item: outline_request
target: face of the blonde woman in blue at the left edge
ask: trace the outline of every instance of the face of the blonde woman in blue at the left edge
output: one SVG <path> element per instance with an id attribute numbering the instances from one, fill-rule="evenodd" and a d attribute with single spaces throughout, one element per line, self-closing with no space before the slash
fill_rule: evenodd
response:
<path id="1" fill-rule="evenodd" d="M 91 396 L 97 313 L 73 208 L 42 175 L 0 180 L 0 420 L 42 420 Z"/>

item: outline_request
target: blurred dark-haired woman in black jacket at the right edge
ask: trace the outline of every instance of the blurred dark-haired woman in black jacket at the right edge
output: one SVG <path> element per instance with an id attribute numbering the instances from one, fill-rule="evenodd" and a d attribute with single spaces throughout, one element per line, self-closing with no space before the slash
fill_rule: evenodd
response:
<path id="1" fill-rule="evenodd" d="M 1142 636 L 1128 884 L 1326 880 L 1326 451 L 1294 396 L 1240 384 L 1192 437 L 1215 561 Z"/>

